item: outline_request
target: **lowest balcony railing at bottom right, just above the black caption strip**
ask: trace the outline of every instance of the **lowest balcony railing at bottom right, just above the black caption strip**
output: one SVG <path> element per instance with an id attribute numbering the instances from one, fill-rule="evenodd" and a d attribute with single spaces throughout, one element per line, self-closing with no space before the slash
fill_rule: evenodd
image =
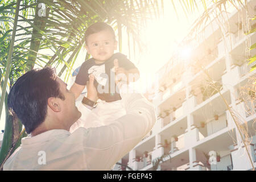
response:
<path id="1" fill-rule="evenodd" d="M 233 169 L 232 157 L 231 155 L 225 155 L 220 159 L 217 164 L 210 165 L 211 171 L 230 171 Z"/>

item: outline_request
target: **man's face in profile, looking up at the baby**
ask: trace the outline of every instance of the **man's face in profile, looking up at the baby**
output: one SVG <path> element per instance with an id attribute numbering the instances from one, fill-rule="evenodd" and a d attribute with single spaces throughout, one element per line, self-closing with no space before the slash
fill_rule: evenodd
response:
<path id="1" fill-rule="evenodd" d="M 65 100 L 61 101 L 61 115 L 63 117 L 64 124 L 68 127 L 73 125 L 81 117 L 80 111 L 75 104 L 75 95 L 67 89 L 67 84 L 57 77 L 57 82 L 60 84 L 60 92 L 65 97 Z"/>

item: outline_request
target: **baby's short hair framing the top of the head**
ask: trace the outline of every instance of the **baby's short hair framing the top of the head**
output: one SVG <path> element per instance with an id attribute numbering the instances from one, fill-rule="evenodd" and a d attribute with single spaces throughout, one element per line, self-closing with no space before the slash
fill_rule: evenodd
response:
<path id="1" fill-rule="evenodd" d="M 104 30 L 108 30 L 110 31 L 110 33 L 113 34 L 113 38 L 115 40 L 115 32 L 113 30 L 113 28 L 104 22 L 97 22 L 97 23 L 93 23 L 92 25 L 90 25 L 87 30 L 85 31 L 85 44 L 87 45 L 87 39 L 89 35 L 95 34 L 97 32 L 100 31 L 104 31 Z"/>

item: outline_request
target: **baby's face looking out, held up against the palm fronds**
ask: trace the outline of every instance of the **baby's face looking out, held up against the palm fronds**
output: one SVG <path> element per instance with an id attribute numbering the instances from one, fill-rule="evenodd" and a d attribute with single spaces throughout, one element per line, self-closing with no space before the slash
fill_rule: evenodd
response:
<path id="1" fill-rule="evenodd" d="M 114 40 L 111 32 L 104 30 L 89 35 L 87 46 L 85 47 L 88 53 L 95 59 L 96 63 L 104 63 L 117 49 L 117 41 Z"/>

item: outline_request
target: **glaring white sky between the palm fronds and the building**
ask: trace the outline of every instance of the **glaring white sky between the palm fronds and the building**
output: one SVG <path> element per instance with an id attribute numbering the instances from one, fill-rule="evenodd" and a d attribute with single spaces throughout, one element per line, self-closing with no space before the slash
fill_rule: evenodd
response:
<path id="1" fill-rule="evenodd" d="M 177 7 L 176 7 L 177 8 Z M 142 32 L 142 40 L 146 43 L 147 49 L 144 52 L 138 53 L 130 59 L 139 69 L 141 79 L 136 83 L 141 85 L 142 89 L 146 89 L 152 84 L 152 81 L 157 79 L 155 73 L 170 59 L 172 52 L 175 51 L 177 43 L 181 42 L 193 20 L 197 14 L 185 17 L 183 10 L 177 8 L 179 18 L 172 9 L 170 1 L 164 1 L 164 14 L 158 20 L 150 20 L 147 27 Z M 125 35 L 125 34 L 123 34 Z M 129 55 L 127 43 L 123 39 L 122 53 Z M 84 61 L 86 50 L 82 49 L 77 57 L 73 69 L 76 69 Z M 64 74 L 63 77 L 64 78 Z M 68 81 L 68 86 L 71 86 L 72 78 Z M 4 111 L 5 109 L 3 109 Z M 0 133 L 5 127 L 5 113 L 2 113 L 0 120 Z"/>

